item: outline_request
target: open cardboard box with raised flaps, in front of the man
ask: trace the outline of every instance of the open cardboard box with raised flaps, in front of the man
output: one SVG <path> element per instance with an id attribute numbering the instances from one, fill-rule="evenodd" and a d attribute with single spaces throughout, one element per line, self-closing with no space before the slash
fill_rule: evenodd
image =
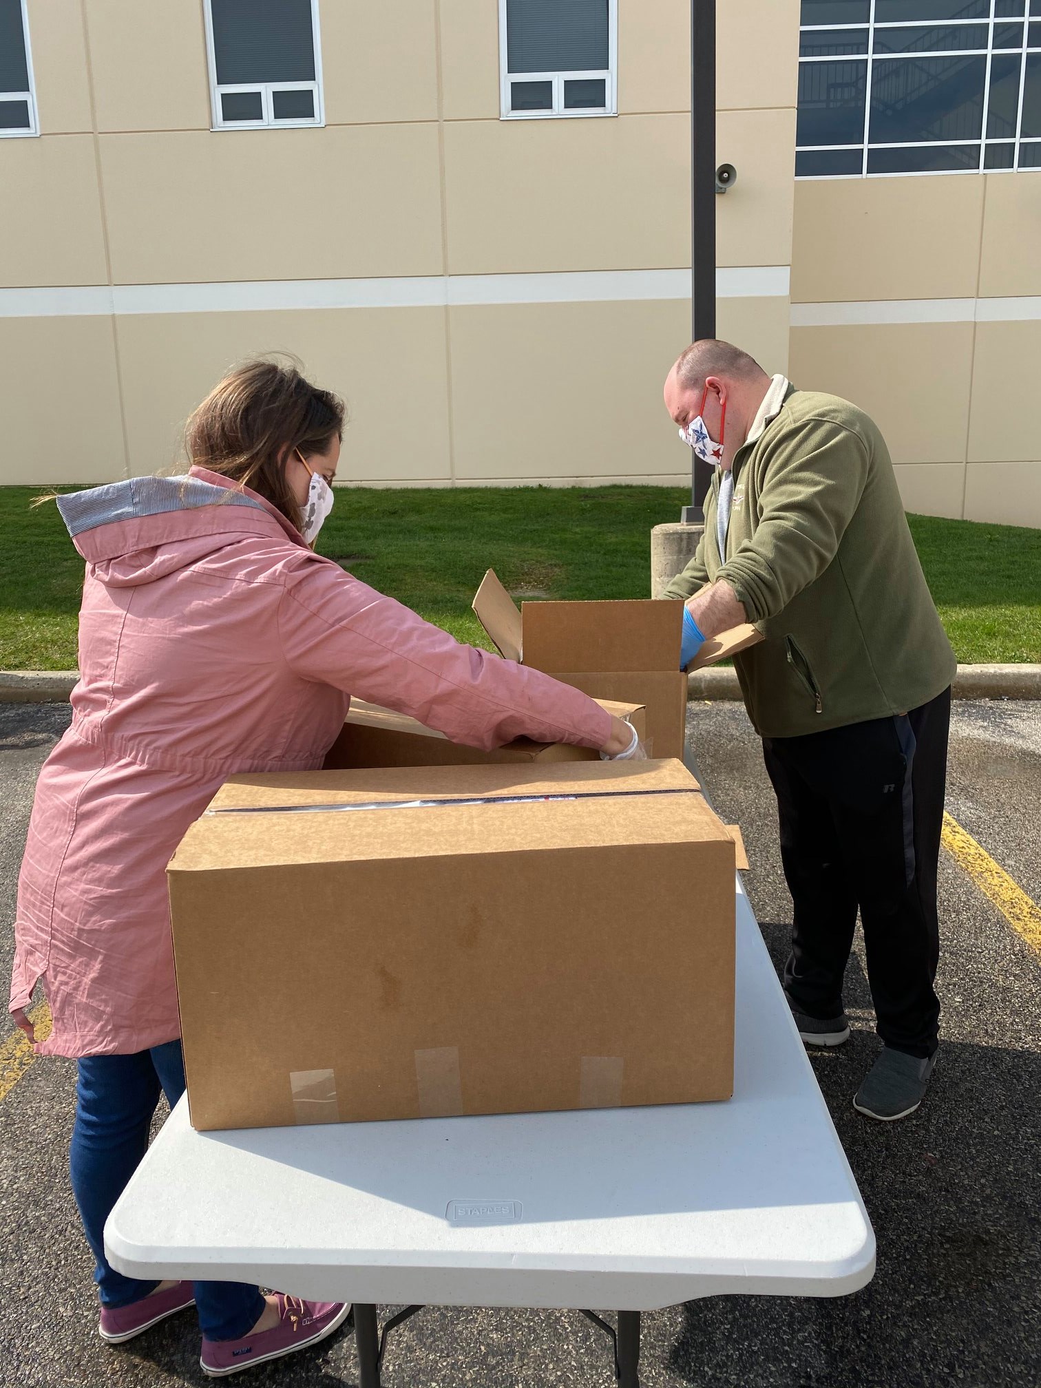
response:
<path id="1" fill-rule="evenodd" d="M 683 756 L 687 726 L 687 672 L 680 670 L 683 602 L 516 604 L 489 569 L 473 611 L 500 655 L 533 665 L 594 698 L 647 706 L 651 756 Z M 754 626 L 705 641 L 688 670 L 716 665 L 762 641 Z"/>

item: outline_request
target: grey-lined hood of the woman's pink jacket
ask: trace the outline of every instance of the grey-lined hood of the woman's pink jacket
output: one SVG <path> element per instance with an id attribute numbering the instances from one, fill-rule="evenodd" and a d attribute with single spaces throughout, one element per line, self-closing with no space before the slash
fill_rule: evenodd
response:
<path id="1" fill-rule="evenodd" d="M 76 550 L 96 576 L 132 587 L 197 564 L 243 534 L 303 536 L 264 497 L 219 473 L 130 477 L 58 497 Z"/>

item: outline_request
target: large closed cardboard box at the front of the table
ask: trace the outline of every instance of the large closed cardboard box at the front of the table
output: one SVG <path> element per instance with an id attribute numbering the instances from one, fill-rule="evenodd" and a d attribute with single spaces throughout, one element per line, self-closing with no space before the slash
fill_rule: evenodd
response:
<path id="1" fill-rule="evenodd" d="M 734 840 L 680 762 L 236 776 L 169 899 L 197 1128 L 731 1092 Z"/>

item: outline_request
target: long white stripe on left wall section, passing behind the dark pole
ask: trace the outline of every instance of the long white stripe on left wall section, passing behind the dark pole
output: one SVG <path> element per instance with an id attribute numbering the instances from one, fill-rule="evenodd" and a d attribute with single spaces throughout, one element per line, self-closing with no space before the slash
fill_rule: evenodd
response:
<path id="1" fill-rule="evenodd" d="M 784 298 L 787 265 L 716 271 L 720 298 Z M 584 304 L 690 298 L 688 269 L 547 275 L 437 275 L 403 279 L 230 280 L 214 285 L 72 285 L 0 289 L 0 318 L 99 314 L 242 314 L 308 308 L 439 308 L 466 304 Z"/>

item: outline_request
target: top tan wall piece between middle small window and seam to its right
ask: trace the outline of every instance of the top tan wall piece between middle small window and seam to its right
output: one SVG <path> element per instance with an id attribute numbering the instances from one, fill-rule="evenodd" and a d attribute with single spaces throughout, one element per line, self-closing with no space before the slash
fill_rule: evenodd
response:
<path id="1" fill-rule="evenodd" d="M 336 0 L 321 7 L 321 35 L 329 125 L 437 119 L 433 6 Z"/>

